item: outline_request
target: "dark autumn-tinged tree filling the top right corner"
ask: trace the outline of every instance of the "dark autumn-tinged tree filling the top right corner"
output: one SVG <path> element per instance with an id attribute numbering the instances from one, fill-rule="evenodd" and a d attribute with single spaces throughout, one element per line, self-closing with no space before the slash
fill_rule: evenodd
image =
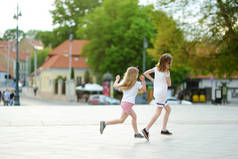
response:
<path id="1" fill-rule="evenodd" d="M 182 10 L 185 18 L 192 15 L 193 19 L 198 19 L 200 25 L 194 26 L 197 32 L 203 31 L 196 34 L 194 41 L 186 48 L 193 72 L 212 73 L 220 77 L 238 74 L 237 0 L 158 0 L 158 2 L 159 5 L 167 7 L 177 6 L 175 13 Z"/>

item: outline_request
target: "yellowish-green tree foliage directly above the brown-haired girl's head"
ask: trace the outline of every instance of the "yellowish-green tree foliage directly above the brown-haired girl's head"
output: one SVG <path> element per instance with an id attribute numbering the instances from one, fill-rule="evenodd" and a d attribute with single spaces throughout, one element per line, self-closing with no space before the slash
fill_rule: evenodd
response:
<path id="1" fill-rule="evenodd" d="M 152 39 L 154 47 L 148 49 L 149 54 L 158 61 L 162 54 L 170 53 L 173 56 L 173 65 L 184 65 L 187 54 L 183 50 L 186 44 L 183 31 L 165 12 L 155 11 L 151 17 L 156 26 L 156 36 Z"/>

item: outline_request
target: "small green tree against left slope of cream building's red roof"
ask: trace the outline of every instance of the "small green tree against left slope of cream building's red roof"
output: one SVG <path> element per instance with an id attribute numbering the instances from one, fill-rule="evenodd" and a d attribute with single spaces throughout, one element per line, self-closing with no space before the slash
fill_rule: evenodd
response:
<path id="1" fill-rule="evenodd" d="M 37 68 L 39 68 L 45 61 L 45 59 L 48 57 L 48 53 L 51 51 L 51 49 L 44 49 L 44 50 L 37 50 Z M 35 56 L 32 54 L 31 56 L 31 72 L 34 72 L 34 65 L 35 64 Z"/>

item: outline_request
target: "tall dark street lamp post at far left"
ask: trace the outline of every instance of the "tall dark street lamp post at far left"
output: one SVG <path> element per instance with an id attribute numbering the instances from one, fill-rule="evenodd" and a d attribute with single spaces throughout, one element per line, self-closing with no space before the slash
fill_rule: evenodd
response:
<path id="1" fill-rule="evenodd" d="M 16 28 L 16 95 L 15 95 L 15 105 L 20 105 L 20 99 L 19 99 L 19 62 L 18 62 L 18 18 L 21 16 L 21 12 L 18 10 L 18 4 L 17 4 L 17 13 L 14 15 L 14 19 L 17 20 L 17 28 Z"/>

